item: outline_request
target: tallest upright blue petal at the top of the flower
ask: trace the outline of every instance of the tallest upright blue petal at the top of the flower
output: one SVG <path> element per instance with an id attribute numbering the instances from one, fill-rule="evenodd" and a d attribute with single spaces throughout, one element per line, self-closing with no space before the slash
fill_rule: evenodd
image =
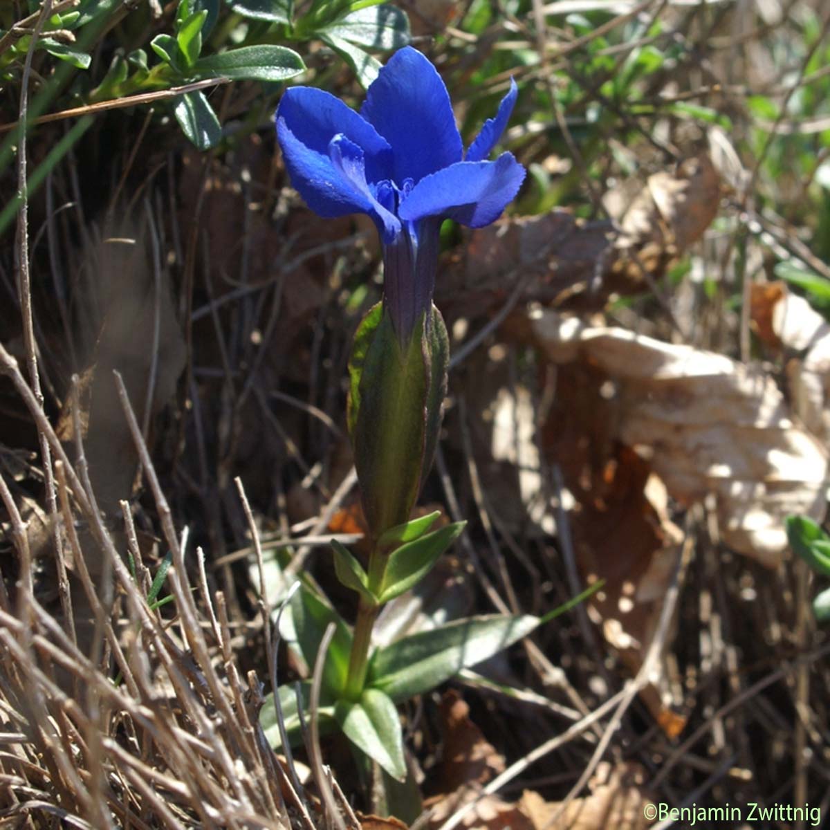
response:
<path id="1" fill-rule="evenodd" d="M 360 114 L 392 145 L 394 179 L 419 182 L 461 161 L 463 147 L 447 87 L 417 49 L 404 46 L 366 90 Z"/>

